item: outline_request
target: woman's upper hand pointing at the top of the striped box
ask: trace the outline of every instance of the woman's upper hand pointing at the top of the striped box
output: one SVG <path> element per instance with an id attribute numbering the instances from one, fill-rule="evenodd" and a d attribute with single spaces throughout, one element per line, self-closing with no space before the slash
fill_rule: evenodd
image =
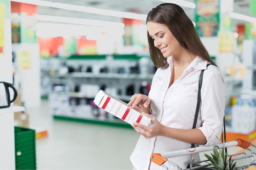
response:
<path id="1" fill-rule="evenodd" d="M 135 93 L 134 95 L 132 95 L 130 102 L 127 104 L 127 106 L 132 105 L 132 108 L 135 108 L 139 112 L 145 112 L 149 114 L 150 113 L 149 104 L 150 104 L 150 99 L 147 95 Z"/>

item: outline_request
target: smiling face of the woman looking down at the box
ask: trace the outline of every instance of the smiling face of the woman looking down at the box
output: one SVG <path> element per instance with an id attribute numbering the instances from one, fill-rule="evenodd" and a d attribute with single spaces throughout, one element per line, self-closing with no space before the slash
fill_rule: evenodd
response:
<path id="1" fill-rule="evenodd" d="M 165 24 L 148 22 L 147 29 L 155 47 L 164 57 L 177 56 L 182 51 L 182 46 Z"/>

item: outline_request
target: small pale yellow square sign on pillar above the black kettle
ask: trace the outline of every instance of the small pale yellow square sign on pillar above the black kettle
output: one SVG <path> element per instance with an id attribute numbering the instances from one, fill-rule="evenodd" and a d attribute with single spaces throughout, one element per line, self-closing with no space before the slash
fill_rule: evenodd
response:
<path id="1" fill-rule="evenodd" d="M 31 53 L 30 51 L 18 51 L 18 68 L 31 68 Z"/>

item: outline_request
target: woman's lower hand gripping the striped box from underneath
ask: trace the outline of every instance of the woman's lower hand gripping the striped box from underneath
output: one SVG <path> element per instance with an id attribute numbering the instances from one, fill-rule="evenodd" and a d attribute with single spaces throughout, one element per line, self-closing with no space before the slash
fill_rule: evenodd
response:
<path id="1" fill-rule="evenodd" d="M 135 127 L 134 126 L 132 126 L 132 127 L 136 130 L 136 132 L 143 135 L 146 139 L 162 135 L 165 126 L 162 125 L 155 117 L 153 117 L 153 116 L 151 116 L 147 113 L 142 113 L 142 114 L 144 116 L 148 117 L 149 119 L 151 119 L 151 126 L 146 126 L 146 125 L 143 125 L 143 124 L 133 122 L 133 125 Z M 136 128 L 136 126 L 138 128 L 143 129 L 144 131 Z"/>

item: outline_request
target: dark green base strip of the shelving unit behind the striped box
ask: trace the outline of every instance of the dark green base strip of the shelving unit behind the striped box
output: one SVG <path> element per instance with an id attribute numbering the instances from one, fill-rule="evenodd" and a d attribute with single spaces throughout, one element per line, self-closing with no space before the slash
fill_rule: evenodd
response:
<path id="1" fill-rule="evenodd" d="M 132 128 L 132 126 L 124 121 L 121 121 L 119 119 L 85 119 L 85 118 L 78 118 L 78 117 L 68 117 L 63 115 L 53 115 L 54 119 L 58 120 L 67 120 L 67 121 L 77 121 L 77 122 L 83 122 L 83 123 L 90 123 L 90 124 L 99 124 L 99 125 L 105 125 L 105 126 L 115 126 L 115 127 L 122 127 L 122 128 Z"/>

